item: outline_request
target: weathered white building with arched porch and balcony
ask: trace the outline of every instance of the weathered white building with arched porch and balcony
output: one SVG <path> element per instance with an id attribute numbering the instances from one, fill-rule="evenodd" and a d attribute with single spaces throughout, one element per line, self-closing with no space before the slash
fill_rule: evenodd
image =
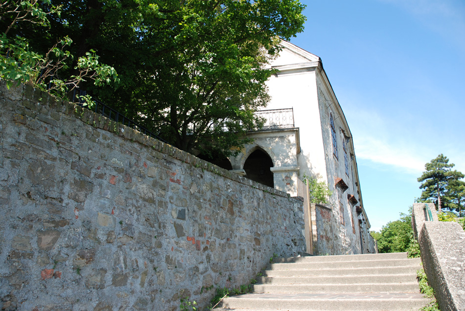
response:
<path id="1" fill-rule="evenodd" d="M 267 82 L 271 101 L 254 142 L 230 158 L 233 171 L 297 195 L 304 175 L 326 181 L 332 196 L 316 205 L 314 250 L 318 255 L 376 252 L 363 208 L 354 144 L 321 59 L 282 42 Z"/>

